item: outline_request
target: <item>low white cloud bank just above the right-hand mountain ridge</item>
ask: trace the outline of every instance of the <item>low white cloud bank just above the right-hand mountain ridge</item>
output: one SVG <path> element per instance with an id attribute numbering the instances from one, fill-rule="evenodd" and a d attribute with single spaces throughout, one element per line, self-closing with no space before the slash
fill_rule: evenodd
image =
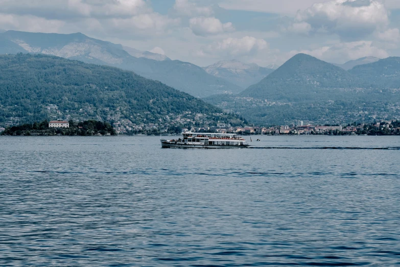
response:
<path id="1" fill-rule="evenodd" d="M 375 47 L 372 41 L 340 42 L 332 46 L 324 46 L 313 50 L 291 51 L 287 58 L 298 53 L 312 55 L 321 60 L 334 63 L 344 63 L 344 61 L 359 59 L 365 56 L 375 56 L 379 58 L 388 57 L 388 53 L 381 48 Z M 342 62 L 337 62 L 341 60 Z"/>

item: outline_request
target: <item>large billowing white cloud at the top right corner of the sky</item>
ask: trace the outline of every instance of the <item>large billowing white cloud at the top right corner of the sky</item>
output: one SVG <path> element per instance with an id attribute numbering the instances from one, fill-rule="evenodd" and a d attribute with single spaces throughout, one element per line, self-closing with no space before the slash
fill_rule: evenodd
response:
<path id="1" fill-rule="evenodd" d="M 308 23 L 314 32 L 360 40 L 387 28 L 389 11 L 377 0 L 331 0 L 297 12 L 296 24 L 299 23 Z"/>

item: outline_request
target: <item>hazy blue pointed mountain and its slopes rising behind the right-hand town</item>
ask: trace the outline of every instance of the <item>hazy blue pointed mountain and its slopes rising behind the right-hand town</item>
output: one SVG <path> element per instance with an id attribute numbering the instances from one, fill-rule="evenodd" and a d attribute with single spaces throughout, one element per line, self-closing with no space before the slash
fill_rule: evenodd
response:
<path id="1" fill-rule="evenodd" d="M 400 118 L 400 57 L 357 65 L 349 71 L 298 54 L 257 84 L 233 96 L 205 100 L 260 124 Z"/>

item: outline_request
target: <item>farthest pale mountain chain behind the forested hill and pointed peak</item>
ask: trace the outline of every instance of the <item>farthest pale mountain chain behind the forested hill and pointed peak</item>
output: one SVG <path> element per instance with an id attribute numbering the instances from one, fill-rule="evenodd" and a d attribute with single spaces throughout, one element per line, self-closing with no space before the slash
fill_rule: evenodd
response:
<path id="1" fill-rule="evenodd" d="M 277 69 L 275 64 L 263 68 L 237 60 L 219 61 L 200 68 L 189 62 L 171 60 L 166 55 L 90 38 L 82 33 L 0 33 L 0 54 L 16 53 L 41 53 L 115 66 L 201 98 L 214 94 L 240 93 Z M 347 70 L 376 60 L 378 58 L 365 57 L 336 65 Z"/>

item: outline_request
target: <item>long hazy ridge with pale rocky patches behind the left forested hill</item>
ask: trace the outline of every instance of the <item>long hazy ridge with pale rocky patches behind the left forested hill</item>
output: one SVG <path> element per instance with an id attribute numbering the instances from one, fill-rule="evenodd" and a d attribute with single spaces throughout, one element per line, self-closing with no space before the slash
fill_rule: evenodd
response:
<path id="1" fill-rule="evenodd" d="M 126 52 L 121 44 L 90 38 L 81 33 L 46 34 L 7 31 L 0 34 L 0 37 L 4 37 L 0 38 L 0 48 L 2 48 L 2 43 L 5 47 L 2 51 L 4 54 L 22 51 L 42 53 L 87 63 L 116 66 L 134 71 L 146 78 L 161 81 L 196 97 L 243 91 L 242 87 L 209 75 L 199 66 L 189 62 L 157 61 L 145 57 L 134 57 Z M 18 47 L 23 50 L 18 50 Z"/>

